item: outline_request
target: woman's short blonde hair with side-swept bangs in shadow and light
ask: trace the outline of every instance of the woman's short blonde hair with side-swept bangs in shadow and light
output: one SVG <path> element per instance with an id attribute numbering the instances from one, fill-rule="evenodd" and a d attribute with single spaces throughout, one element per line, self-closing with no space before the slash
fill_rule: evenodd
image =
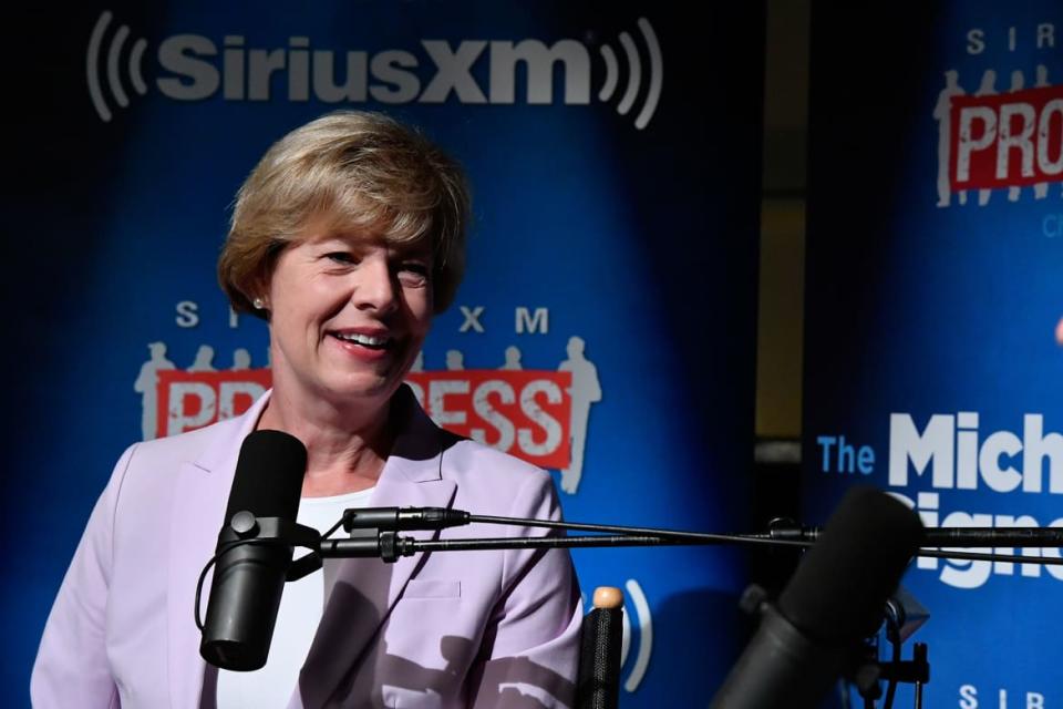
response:
<path id="1" fill-rule="evenodd" d="M 380 113 L 337 111 L 275 143 L 236 195 L 218 281 L 234 309 L 251 301 L 277 255 L 318 215 L 389 244 L 427 239 L 436 314 L 465 268 L 469 195 L 461 166 L 417 131 Z"/>

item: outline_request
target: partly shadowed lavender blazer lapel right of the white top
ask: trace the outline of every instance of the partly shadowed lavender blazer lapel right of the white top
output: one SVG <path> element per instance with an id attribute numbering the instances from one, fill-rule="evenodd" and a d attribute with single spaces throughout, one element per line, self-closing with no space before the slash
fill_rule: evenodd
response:
<path id="1" fill-rule="evenodd" d="M 399 433 L 369 506 L 450 507 L 456 486 L 441 474 L 450 434 L 429 419 L 405 387 L 395 394 L 392 405 Z M 402 534 L 431 540 L 438 533 Z M 378 630 L 425 556 L 404 556 L 394 564 L 379 558 L 326 561 L 328 600 L 291 706 L 324 706 L 334 695 L 342 693 L 344 685 L 353 684 L 362 662 L 371 655 Z"/>

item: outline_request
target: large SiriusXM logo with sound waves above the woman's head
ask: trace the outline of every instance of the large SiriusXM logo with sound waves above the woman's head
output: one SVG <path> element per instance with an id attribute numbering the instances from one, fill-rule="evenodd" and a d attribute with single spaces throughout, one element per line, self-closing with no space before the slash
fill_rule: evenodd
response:
<path id="1" fill-rule="evenodd" d="M 144 80 L 147 40 L 136 39 L 126 50 L 130 28 L 124 24 L 106 39 L 112 19 L 110 11 L 100 16 L 85 59 L 89 94 L 105 122 L 112 119 L 112 105 L 128 106 L 127 85 L 138 95 L 148 91 Z M 269 101 L 283 95 L 288 101 L 312 97 L 333 104 L 431 104 L 443 103 L 453 94 L 463 104 L 506 105 L 518 101 L 516 78 L 523 68 L 525 103 L 553 104 L 554 81 L 560 76 L 559 93 L 567 105 L 587 105 L 592 97 L 608 103 L 616 97 L 617 113 L 626 116 L 641 99 L 634 126 L 642 130 L 660 101 L 663 62 L 650 22 L 642 18 L 638 28 L 641 45 L 628 32 L 618 38 L 623 62 L 609 44 L 598 48 L 603 73 L 594 96 L 591 65 L 596 62 L 586 44 L 559 40 L 547 45 L 534 39 L 456 44 L 421 40 L 416 52 L 391 49 L 369 53 L 316 49 L 310 38 L 298 35 L 290 37 L 287 47 L 267 49 L 248 47 L 239 34 L 224 37 L 220 45 L 202 34 L 174 34 L 158 43 L 156 59 L 162 72 L 155 88 L 175 101 L 203 101 L 220 92 L 225 101 Z M 486 85 L 472 73 L 477 62 L 486 62 Z"/>

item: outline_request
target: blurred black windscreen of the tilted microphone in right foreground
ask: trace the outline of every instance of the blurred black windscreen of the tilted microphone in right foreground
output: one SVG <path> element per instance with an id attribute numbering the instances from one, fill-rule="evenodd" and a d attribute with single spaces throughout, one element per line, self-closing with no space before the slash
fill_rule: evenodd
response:
<path id="1" fill-rule="evenodd" d="M 919 516 L 901 502 L 871 487 L 849 490 L 780 596 L 780 613 L 832 646 L 875 634 L 921 540 Z"/>

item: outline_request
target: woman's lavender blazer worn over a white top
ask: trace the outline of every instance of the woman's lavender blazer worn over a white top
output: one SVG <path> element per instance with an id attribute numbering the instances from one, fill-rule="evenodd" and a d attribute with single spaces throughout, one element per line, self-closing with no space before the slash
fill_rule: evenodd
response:
<path id="1" fill-rule="evenodd" d="M 217 674 L 199 657 L 193 619 L 196 579 L 214 553 L 240 444 L 268 395 L 237 419 L 125 451 L 49 616 L 30 684 L 34 707 L 214 706 Z M 405 387 L 395 395 L 400 433 L 372 506 L 559 517 L 549 475 L 442 431 Z M 503 534 L 537 532 L 442 533 Z M 328 604 L 299 686 L 277 706 L 571 705 L 582 609 L 566 552 L 336 559 L 324 575 Z"/>

